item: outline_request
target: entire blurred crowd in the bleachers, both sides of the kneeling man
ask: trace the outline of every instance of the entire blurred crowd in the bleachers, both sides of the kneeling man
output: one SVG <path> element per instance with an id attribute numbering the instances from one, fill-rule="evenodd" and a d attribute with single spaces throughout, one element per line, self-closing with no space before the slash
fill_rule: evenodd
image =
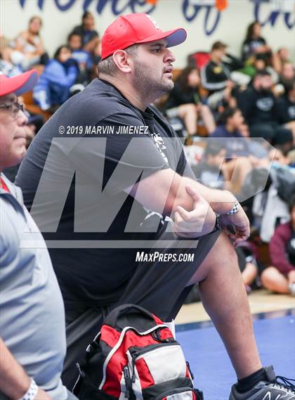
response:
<path id="1" fill-rule="evenodd" d="M 40 112 L 52 114 L 97 76 L 100 39 L 86 11 L 50 58 L 41 28 L 41 18 L 33 16 L 15 39 L 1 37 L 0 67 L 14 76 L 37 65 L 32 98 Z M 259 22 L 252 22 L 240 57 L 222 41 L 207 53 L 195 51 L 171 93 L 156 104 L 183 137 L 197 179 L 232 191 L 247 211 L 253 235 L 237 255 L 248 291 L 263 285 L 295 294 L 293 63 L 287 49 L 273 49 L 261 36 Z M 31 140 L 43 122 L 41 115 L 29 115 Z M 269 243 L 266 262 L 259 254 L 262 242 Z"/>

